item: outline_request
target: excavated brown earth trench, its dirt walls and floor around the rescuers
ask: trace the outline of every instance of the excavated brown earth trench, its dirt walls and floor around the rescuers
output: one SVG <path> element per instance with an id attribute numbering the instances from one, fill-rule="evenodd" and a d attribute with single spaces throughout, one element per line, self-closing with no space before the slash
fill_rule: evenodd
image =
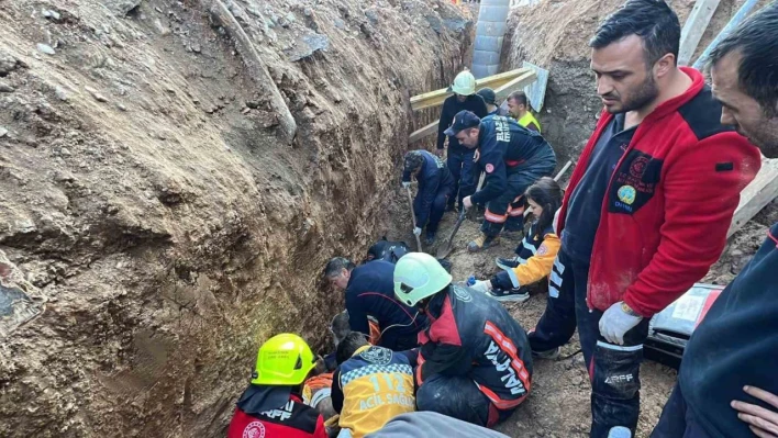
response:
<path id="1" fill-rule="evenodd" d="M 587 41 L 621 3 L 541 0 L 509 16 L 501 70 L 549 70 L 540 120 L 559 164 L 596 122 Z M 694 2 L 669 3 L 682 23 Z M 721 1 L 698 55 L 741 3 Z M 5 1 L 0 274 L 34 312 L 0 330 L 0 437 L 222 437 L 264 340 L 330 348 L 343 302 L 322 268 L 381 236 L 413 242 L 401 157 L 432 147 L 408 136 L 437 113 L 410 98 L 469 66 L 477 8 Z M 730 282 L 777 216 L 774 201 L 703 281 Z M 489 276 L 516 244 L 467 254 L 477 227 L 457 234 L 455 280 Z M 532 327 L 544 305 L 538 291 L 509 308 Z M 535 364 L 533 394 L 498 430 L 587 436 L 577 350 Z M 645 362 L 642 378 L 638 437 L 676 372 Z"/>

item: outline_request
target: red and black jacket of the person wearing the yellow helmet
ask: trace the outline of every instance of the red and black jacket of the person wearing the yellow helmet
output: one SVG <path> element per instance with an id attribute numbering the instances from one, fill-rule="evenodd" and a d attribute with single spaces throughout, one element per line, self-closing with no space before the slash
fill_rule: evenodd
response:
<path id="1" fill-rule="evenodd" d="M 288 388 L 279 404 L 277 390 L 284 388 L 251 385 L 237 403 L 227 438 L 327 438 L 319 411 L 303 404 Z"/>

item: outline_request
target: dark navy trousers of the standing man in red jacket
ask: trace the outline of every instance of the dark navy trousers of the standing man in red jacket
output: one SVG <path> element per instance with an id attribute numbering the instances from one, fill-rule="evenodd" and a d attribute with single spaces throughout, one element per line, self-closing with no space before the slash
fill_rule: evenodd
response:
<path id="1" fill-rule="evenodd" d="M 589 263 L 573 260 L 559 250 L 548 279 L 546 310 L 529 334 L 534 351 L 560 347 L 578 337 L 591 380 L 591 437 L 605 438 L 614 426 L 637 427 L 641 409 L 640 368 L 649 318 L 624 335 L 624 345 L 608 342 L 600 335 L 602 312 L 586 303 Z"/>

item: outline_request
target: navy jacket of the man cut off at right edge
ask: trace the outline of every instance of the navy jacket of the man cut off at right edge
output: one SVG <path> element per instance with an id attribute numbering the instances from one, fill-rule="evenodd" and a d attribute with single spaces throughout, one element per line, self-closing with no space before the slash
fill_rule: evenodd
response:
<path id="1" fill-rule="evenodd" d="M 678 382 L 687 406 L 711 437 L 754 436 L 730 406 L 733 400 L 775 411 L 743 386 L 778 394 L 777 271 L 778 223 L 686 347 Z"/>

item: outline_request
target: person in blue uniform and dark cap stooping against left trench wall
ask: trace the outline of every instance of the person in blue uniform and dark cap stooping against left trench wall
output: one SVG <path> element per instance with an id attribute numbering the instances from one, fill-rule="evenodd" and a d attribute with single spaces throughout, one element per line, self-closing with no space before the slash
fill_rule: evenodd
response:
<path id="1" fill-rule="evenodd" d="M 435 242 L 437 225 L 446 211 L 446 202 L 454 192 L 454 177 L 446 165 L 426 150 L 411 150 L 405 154 L 402 168 L 402 187 L 411 184 L 411 177 L 419 181 L 416 198 L 413 200 L 413 213 L 416 227 L 413 234 L 421 236 L 426 225 L 425 244 Z"/>

